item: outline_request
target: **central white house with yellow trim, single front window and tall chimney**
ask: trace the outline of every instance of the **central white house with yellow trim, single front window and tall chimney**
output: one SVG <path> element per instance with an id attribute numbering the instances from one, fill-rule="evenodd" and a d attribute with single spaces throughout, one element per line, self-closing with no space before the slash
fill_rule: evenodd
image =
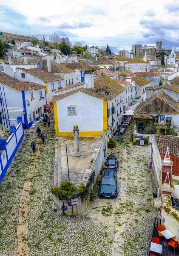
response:
<path id="1" fill-rule="evenodd" d="M 100 136 L 103 131 L 114 135 L 124 113 L 124 91 L 109 77 L 94 79 L 93 73 L 85 73 L 79 87 L 66 87 L 53 96 L 56 136 L 73 136 L 73 125 L 78 125 L 80 136 Z"/>

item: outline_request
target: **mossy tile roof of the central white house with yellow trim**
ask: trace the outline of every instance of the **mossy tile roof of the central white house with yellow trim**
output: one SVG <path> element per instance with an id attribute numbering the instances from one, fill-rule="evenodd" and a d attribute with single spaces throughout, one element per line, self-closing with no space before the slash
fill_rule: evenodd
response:
<path id="1" fill-rule="evenodd" d="M 107 86 L 106 90 L 109 92 L 109 95 L 105 95 L 97 92 L 97 89 L 99 89 L 99 87 L 101 86 L 104 86 L 104 87 Z M 124 90 L 125 88 L 122 85 L 116 83 L 113 79 L 109 78 L 108 76 L 105 76 L 105 77 L 94 79 L 94 88 L 92 89 L 86 89 L 82 87 L 77 90 L 73 90 L 64 94 L 57 94 L 52 97 L 52 102 L 64 99 L 78 92 L 86 93 L 98 99 L 111 100 L 114 97 L 116 97 L 119 93 L 122 93 Z"/>

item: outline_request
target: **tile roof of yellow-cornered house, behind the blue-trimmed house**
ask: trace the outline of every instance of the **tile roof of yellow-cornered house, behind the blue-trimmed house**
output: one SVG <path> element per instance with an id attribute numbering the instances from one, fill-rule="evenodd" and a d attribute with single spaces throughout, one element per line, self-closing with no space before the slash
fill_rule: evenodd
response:
<path id="1" fill-rule="evenodd" d="M 60 81 L 64 80 L 60 76 L 55 76 L 54 74 L 40 70 L 38 68 L 29 68 L 29 69 L 24 69 L 23 72 L 30 74 L 31 76 L 35 76 L 38 79 L 44 81 L 44 82 L 51 82 L 51 81 Z"/>

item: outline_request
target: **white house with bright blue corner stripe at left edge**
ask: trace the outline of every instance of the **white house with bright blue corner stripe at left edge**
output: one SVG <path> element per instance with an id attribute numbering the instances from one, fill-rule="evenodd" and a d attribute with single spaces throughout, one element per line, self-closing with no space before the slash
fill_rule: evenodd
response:
<path id="1" fill-rule="evenodd" d="M 4 128 L 6 125 L 17 124 L 18 116 L 22 118 L 23 125 L 29 128 L 44 115 L 43 105 L 46 104 L 44 85 L 28 80 L 22 82 L 0 72 L 0 88 L 3 103 L 0 125 Z"/>

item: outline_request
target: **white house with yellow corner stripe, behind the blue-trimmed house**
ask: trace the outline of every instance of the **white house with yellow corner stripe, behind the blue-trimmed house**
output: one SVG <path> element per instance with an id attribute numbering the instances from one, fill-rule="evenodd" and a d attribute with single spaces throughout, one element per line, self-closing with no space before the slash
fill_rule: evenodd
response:
<path id="1" fill-rule="evenodd" d="M 14 73 L 14 77 L 20 81 L 31 81 L 45 86 L 45 99 L 49 104 L 56 90 L 64 86 L 64 79 L 52 73 L 40 69 L 24 69 Z"/>

